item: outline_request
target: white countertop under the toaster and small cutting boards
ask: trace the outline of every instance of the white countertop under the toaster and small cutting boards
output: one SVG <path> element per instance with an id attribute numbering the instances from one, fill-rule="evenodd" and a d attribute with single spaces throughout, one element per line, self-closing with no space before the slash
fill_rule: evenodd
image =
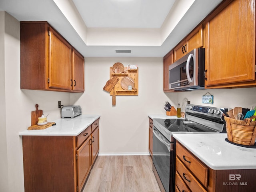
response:
<path id="1" fill-rule="evenodd" d="M 56 125 L 42 130 L 24 130 L 20 136 L 78 136 L 100 115 L 80 115 L 75 118 L 60 118 L 51 122 Z"/>

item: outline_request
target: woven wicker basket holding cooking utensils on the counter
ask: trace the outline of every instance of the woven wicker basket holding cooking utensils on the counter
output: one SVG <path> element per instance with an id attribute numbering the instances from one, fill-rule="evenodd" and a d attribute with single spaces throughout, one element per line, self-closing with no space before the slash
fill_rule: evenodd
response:
<path id="1" fill-rule="evenodd" d="M 228 140 L 233 143 L 253 146 L 256 138 L 256 121 L 251 121 L 256 116 L 243 120 L 236 120 L 224 116 Z"/>

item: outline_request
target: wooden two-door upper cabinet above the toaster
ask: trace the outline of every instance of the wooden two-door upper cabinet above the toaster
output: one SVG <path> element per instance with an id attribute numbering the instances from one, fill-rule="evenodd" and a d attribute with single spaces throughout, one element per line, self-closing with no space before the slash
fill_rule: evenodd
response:
<path id="1" fill-rule="evenodd" d="M 48 22 L 20 22 L 20 88 L 84 92 L 84 57 Z"/>

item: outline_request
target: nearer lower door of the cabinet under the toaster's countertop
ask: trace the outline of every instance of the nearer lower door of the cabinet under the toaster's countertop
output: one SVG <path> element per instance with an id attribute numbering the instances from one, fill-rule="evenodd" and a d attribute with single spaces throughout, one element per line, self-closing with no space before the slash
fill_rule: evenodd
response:
<path id="1" fill-rule="evenodd" d="M 91 138 L 89 137 L 77 150 L 78 192 L 82 190 L 86 177 L 90 172 L 91 166 Z"/>

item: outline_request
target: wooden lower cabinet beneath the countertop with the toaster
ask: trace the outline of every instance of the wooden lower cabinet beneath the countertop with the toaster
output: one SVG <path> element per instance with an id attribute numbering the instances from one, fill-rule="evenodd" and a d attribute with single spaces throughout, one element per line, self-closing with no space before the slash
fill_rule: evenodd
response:
<path id="1" fill-rule="evenodd" d="M 22 136 L 25 192 L 81 192 L 99 152 L 98 122 L 78 136 Z"/>

